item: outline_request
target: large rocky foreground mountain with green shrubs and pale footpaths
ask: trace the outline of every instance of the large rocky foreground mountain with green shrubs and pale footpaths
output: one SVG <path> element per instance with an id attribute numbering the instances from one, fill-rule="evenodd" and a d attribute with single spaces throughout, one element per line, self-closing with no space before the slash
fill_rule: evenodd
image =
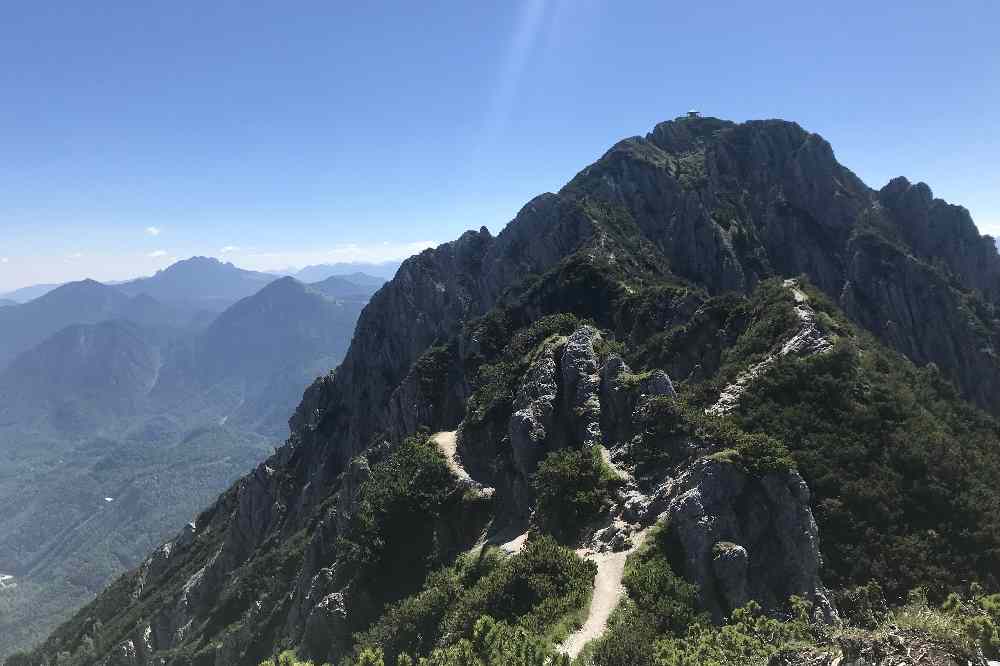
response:
<path id="1" fill-rule="evenodd" d="M 9 663 L 985 663 L 998 299 L 927 186 L 662 123 L 407 260 L 287 443 Z"/>

